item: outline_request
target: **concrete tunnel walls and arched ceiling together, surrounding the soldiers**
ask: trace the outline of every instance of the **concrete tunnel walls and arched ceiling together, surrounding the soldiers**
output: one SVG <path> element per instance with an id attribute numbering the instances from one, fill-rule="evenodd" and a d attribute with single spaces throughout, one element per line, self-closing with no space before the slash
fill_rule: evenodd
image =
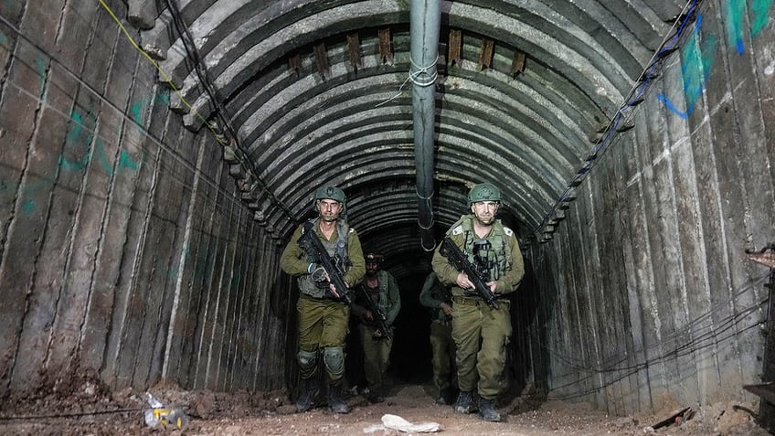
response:
<path id="1" fill-rule="evenodd" d="M 492 183 L 526 267 L 506 401 L 738 401 L 775 428 L 773 16 L 770 0 L 0 2 L 0 403 L 85 379 L 292 399 L 300 292 L 280 258 L 320 186 L 398 282 L 391 377 L 429 383 L 419 292 Z"/>

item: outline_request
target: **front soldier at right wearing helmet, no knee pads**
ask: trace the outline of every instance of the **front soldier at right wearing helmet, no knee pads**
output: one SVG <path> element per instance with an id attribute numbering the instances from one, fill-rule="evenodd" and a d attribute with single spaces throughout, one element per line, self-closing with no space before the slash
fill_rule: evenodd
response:
<path id="1" fill-rule="evenodd" d="M 509 301 L 500 297 L 516 290 L 525 265 L 514 231 L 495 218 L 501 205 L 500 190 L 489 183 L 475 185 L 468 203 L 471 214 L 451 226 L 434 252 L 433 271 L 442 283 L 451 285 L 452 339 L 457 346 L 460 387 L 454 411 L 471 413 L 475 393 L 480 418 L 500 421 L 495 402 L 501 393 L 506 346 L 512 335 Z M 464 259 L 454 259 L 449 250 L 441 250 L 445 242 L 454 244 L 459 250 L 452 252 Z"/>

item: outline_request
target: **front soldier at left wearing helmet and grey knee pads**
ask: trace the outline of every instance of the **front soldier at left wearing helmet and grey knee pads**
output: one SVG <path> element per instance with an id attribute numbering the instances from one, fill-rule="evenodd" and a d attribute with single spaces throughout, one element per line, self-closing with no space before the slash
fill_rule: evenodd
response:
<path id="1" fill-rule="evenodd" d="M 350 318 L 349 289 L 336 289 L 331 274 L 340 272 L 345 286 L 350 288 L 360 282 L 366 265 L 357 232 L 349 227 L 344 216 L 345 192 L 336 186 L 320 187 L 315 191 L 313 203 L 318 217 L 295 230 L 280 259 L 282 271 L 297 278 L 301 292 L 296 308 L 303 390 L 296 401 L 296 410 L 304 412 L 313 408 L 319 391 L 318 354 L 322 353 L 328 382 L 328 408 L 334 413 L 347 413 L 350 409 L 342 399 L 342 385 Z M 300 245 L 305 231 L 315 232 L 326 251 L 323 254 L 333 260 L 337 271 L 326 271 L 321 259 L 316 259 Z"/>

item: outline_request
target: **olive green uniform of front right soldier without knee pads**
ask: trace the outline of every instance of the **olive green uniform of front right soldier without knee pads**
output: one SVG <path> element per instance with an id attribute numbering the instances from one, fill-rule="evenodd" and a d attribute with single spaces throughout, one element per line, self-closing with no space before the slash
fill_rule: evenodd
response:
<path id="1" fill-rule="evenodd" d="M 473 232 L 472 215 L 464 215 L 452 225 L 447 236 L 473 262 L 474 242 L 486 239 L 491 244 L 486 257 L 490 263 L 490 282 L 496 282 L 496 294 L 514 292 L 525 275 L 525 265 L 519 243 L 511 229 L 495 220 L 490 233 L 483 239 Z M 457 345 L 458 384 L 462 391 L 474 388 L 482 399 L 494 400 L 501 391 L 506 346 L 512 335 L 509 302 L 498 300 L 493 309 L 472 290 L 463 291 L 457 285 L 460 271 L 437 249 L 433 255 L 433 271 L 444 284 L 451 285 L 452 338 Z M 477 382 L 478 381 L 478 382 Z"/>

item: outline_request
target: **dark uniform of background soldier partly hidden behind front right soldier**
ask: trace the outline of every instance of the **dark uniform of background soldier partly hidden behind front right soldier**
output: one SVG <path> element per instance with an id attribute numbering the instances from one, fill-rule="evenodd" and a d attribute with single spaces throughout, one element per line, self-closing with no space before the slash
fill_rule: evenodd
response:
<path id="1" fill-rule="evenodd" d="M 449 291 L 436 273 L 431 271 L 419 292 L 419 303 L 430 308 L 430 352 L 433 367 L 433 384 L 439 388 L 440 395 L 449 394 L 456 389 L 454 381 L 455 342 L 452 340 L 452 317 L 441 309 L 441 303 L 449 303 Z"/>

